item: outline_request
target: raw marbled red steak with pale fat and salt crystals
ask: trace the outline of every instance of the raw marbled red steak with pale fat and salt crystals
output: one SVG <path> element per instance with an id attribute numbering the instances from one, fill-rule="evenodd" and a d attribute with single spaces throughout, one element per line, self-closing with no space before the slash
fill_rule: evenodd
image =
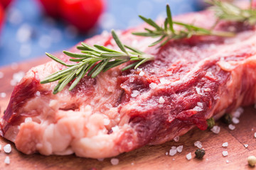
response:
<path id="1" fill-rule="evenodd" d="M 215 22 L 211 11 L 175 19 L 205 28 Z M 53 95 L 57 82 L 40 81 L 65 67 L 48 62 L 32 68 L 14 89 L 1 119 L 2 135 L 25 154 L 113 157 L 164 143 L 194 127 L 206 130 L 208 118 L 255 103 L 254 27 L 222 22 L 216 29 L 235 31 L 234 38 L 192 37 L 163 47 L 148 47 L 154 38 L 131 35 L 143 28 L 119 32 L 124 44 L 156 57 L 137 70 L 115 67 L 95 79 L 83 78 L 73 91 L 65 87 Z M 117 49 L 110 33 L 85 42 Z"/>

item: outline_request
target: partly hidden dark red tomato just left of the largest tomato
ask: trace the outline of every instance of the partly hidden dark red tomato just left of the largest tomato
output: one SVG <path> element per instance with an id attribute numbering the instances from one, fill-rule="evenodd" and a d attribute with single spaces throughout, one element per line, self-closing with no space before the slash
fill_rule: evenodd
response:
<path id="1" fill-rule="evenodd" d="M 41 2 L 43 11 L 45 11 L 48 16 L 52 16 L 54 18 L 58 18 L 60 16 L 59 1 L 61 0 L 38 0 L 38 1 Z"/>

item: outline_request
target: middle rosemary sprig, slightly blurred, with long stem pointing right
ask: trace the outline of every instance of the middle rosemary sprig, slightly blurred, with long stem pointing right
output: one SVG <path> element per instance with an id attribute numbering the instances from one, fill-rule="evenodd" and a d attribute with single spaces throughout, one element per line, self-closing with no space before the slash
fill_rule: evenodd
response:
<path id="1" fill-rule="evenodd" d="M 164 27 L 157 25 L 151 18 L 145 18 L 144 16 L 139 16 L 143 21 L 152 26 L 154 29 L 144 28 L 146 32 L 132 33 L 133 35 L 139 35 L 144 37 L 159 38 L 155 42 L 151 43 L 150 46 L 157 44 L 165 45 L 169 40 L 178 40 L 182 38 L 191 38 L 192 35 L 215 35 L 215 36 L 233 36 L 233 33 L 208 30 L 206 28 L 201 28 L 198 26 L 193 26 L 192 24 L 181 23 L 173 21 L 171 16 L 170 6 L 166 5 L 167 18 L 164 21 Z M 180 26 L 180 30 L 174 30 L 174 25 Z"/>

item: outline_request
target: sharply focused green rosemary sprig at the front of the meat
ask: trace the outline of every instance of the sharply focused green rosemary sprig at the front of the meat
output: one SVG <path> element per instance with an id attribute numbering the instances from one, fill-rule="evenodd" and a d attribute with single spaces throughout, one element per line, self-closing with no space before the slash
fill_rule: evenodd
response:
<path id="1" fill-rule="evenodd" d="M 73 81 L 68 90 L 72 90 L 78 84 L 78 82 L 85 77 L 85 75 L 95 78 L 100 72 L 106 72 L 112 67 L 117 67 L 120 64 L 129 61 L 135 61 L 132 64 L 124 67 L 122 71 L 130 68 L 137 69 L 141 64 L 148 62 L 149 60 L 154 60 L 153 55 L 141 52 L 133 47 L 123 45 L 119 40 L 117 34 L 112 30 L 112 37 L 119 47 L 119 51 L 112 50 L 110 48 L 94 45 L 93 47 L 85 43 L 81 43 L 82 46 L 78 46 L 78 50 L 82 53 L 77 54 L 73 52 L 63 51 L 65 55 L 73 57 L 70 61 L 75 62 L 75 64 L 66 64 L 62 60 L 46 53 L 55 62 L 63 64 L 66 69 L 60 70 L 46 77 L 41 84 L 47 84 L 53 81 L 58 81 L 58 85 L 55 86 L 53 94 L 57 94 L 62 91 L 63 88 L 70 82 Z"/>

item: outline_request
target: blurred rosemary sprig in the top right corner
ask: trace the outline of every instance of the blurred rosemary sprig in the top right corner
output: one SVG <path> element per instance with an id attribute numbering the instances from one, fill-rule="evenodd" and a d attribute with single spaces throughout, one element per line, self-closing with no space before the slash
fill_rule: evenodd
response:
<path id="1" fill-rule="evenodd" d="M 218 21 L 226 20 L 249 23 L 250 25 L 256 24 L 256 10 L 252 8 L 252 0 L 250 0 L 250 8 L 248 9 L 240 8 L 225 1 L 206 0 L 206 2 L 213 5 L 210 8 L 215 11 Z"/>

